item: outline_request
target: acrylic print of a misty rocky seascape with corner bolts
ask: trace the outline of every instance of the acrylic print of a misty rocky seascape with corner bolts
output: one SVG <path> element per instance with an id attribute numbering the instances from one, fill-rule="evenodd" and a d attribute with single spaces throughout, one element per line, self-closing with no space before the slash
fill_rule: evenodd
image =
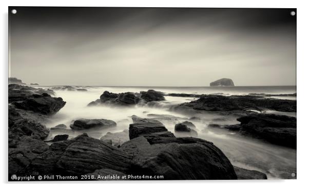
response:
<path id="1" fill-rule="evenodd" d="M 295 179 L 296 9 L 9 7 L 10 181 Z"/>

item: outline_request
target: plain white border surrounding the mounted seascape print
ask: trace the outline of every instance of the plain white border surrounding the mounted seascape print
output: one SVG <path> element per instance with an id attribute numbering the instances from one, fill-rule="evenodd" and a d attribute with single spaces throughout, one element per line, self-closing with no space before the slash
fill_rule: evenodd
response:
<path id="1" fill-rule="evenodd" d="M 278 186 L 278 187 L 298 187 L 305 186 L 308 183 L 308 141 L 309 137 L 309 123 L 307 123 L 308 116 L 308 12 L 309 7 L 306 1 L 64 1 L 64 0 L 52 0 L 52 1 L 38 1 L 38 0 L 26 0 L 26 1 L 2 1 L 1 2 L 1 57 L 3 58 L 1 64 L 1 162 L 2 169 L 1 183 L 4 183 L 4 187 L 54 187 L 55 184 L 63 184 L 64 186 L 84 187 L 84 186 L 112 186 L 112 187 L 158 187 L 158 186 L 173 186 L 173 187 L 187 187 L 187 186 L 209 186 L 209 187 L 261 187 L 261 186 Z M 76 6 L 76 7 L 225 7 L 225 8 L 297 8 L 297 180 L 247 180 L 247 181 L 125 181 L 125 182 L 36 182 L 35 184 L 28 183 L 7 183 L 7 82 L 8 82 L 8 6 Z M 89 185 L 88 185 L 89 184 Z M 191 185 L 192 184 L 192 185 Z"/>

